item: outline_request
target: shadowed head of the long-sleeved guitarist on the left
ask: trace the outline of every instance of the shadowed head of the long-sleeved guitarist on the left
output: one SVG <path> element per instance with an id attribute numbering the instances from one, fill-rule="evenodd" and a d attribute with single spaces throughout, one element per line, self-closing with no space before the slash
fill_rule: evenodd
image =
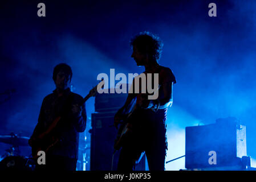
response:
<path id="1" fill-rule="evenodd" d="M 72 78 L 72 69 L 65 63 L 60 63 L 55 66 L 52 79 L 55 82 L 56 88 L 65 90 L 70 86 Z"/>

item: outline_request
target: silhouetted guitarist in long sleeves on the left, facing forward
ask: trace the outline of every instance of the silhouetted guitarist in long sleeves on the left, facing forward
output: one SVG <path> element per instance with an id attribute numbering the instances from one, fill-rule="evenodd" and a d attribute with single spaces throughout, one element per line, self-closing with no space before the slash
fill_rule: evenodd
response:
<path id="1" fill-rule="evenodd" d="M 46 164 L 38 165 L 36 169 L 75 171 L 79 133 L 86 129 L 86 107 L 83 97 L 69 88 L 72 78 L 69 65 L 56 65 L 52 78 L 56 89 L 43 99 L 38 123 L 29 144 L 32 153 L 42 146 L 43 150 L 47 150 Z"/>

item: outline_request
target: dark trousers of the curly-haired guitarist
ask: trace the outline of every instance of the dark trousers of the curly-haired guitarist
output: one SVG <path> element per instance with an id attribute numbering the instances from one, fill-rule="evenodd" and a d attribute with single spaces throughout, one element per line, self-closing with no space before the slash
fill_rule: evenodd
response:
<path id="1" fill-rule="evenodd" d="M 149 170 L 164 171 L 167 150 L 165 121 L 158 119 L 157 115 L 151 115 L 147 122 L 133 126 L 136 129 L 126 136 L 121 148 L 117 171 L 133 171 L 136 161 L 144 151 L 148 159 Z"/>

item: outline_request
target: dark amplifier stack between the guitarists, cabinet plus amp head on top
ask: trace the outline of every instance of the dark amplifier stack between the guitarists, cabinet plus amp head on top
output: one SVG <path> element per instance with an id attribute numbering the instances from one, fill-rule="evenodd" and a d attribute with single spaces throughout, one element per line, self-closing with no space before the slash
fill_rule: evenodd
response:
<path id="1" fill-rule="evenodd" d="M 128 94 L 103 93 L 95 97 L 95 111 L 92 113 L 91 171 L 110 171 L 112 167 L 113 144 L 117 130 L 113 127 L 114 116 L 124 105 Z M 117 168 L 120 151 L 113 157 L 113 170 Z M 145 155 L 136 165 L 136 170 L 145 170 Z"/>

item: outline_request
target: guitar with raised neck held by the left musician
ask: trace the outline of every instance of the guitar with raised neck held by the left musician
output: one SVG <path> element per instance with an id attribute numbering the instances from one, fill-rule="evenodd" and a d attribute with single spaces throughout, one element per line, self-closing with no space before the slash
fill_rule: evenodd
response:
<path id="1" fill-rule="evenodd" d="M 102 80 L 99 84 L 103 84 L 104 80 Z M 98 85 L 99 85 L 98 84 Z M 82 102 L 79 106 L 82 106 L 90 97 L 95 97 L 97 94 L 97 85 L 90 90 L 86 97 L 83 98 Z M 38 151 L 44 151 L 45 153 L 50 150 L 52 146 L 59 142 L 58 137 L 54 137 L 51 135 L 52 130 L 55 129 L 56 125 L 59 123 L 60 119 L 63 118 L 63 115 L 67 110 L 63 110 L 63 114 L 59 115 L 54 119 L 51 125 L 44 131 L 43 133 L 39 134 L 36 138 L 33 139 L 34 144 L 32 144 L 32 157 L 34 159 L 38 158 Z"/>

